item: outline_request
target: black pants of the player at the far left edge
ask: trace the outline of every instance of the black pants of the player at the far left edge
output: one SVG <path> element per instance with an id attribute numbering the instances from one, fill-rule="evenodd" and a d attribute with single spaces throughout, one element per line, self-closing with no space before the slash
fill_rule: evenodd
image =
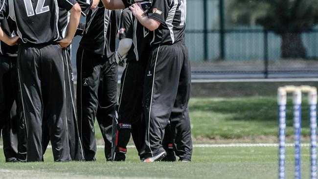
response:
<path id="1" fill-rule="evenodd" d="M 2 131 L 3 153 L 6 161 L 25 161 L 26 157 L 16 64 L 17 57 L 0 56 L 0 134 Z"/>

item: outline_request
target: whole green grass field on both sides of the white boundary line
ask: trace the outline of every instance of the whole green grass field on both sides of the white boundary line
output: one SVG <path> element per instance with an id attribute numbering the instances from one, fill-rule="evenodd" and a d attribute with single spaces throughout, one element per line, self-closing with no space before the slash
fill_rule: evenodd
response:
<path id="1" fill-rule="evenodd" d="M 291 99 L 289 99 L 291 102 Z M 304 104 L 306 98 L 303 99 Z M 287 110 L 287 134 L 293 134 L 292 107 Z M 308 106 L 303 106 L 303 128 L 309 134 Z M 192 135 L 195 143 L 275 142 L 277 136 L 276 96 L 192 98 L 189 104 Z M 101 134 L 96 127 L 96 136 Z M 209 140 L 213 139 L 213 140 Z M 241 140 L 243 139 L 243 140 Z M 209 178 L 209 179 L 275 179 L 277 147 L 194 148 L 191 163 L 139 161 L 135 149 L 129 149 L 127 161 L 106 162 L 98 149 L 96 162 L 55 163 L 51 151 L 43 163 L 5 163 L 0 150 L 2 178 Z M 293 148 L 287 148 L 287 179 L 293 178 Z M 309 148 L 302 148 L 302 174 L 309 178 Z"/>

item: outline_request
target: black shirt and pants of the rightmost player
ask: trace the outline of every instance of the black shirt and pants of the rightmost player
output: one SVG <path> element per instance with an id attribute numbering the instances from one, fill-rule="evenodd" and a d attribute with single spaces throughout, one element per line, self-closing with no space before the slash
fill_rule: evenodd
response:
<path id="1" fill-rule="evenodd" d="M 170 120 L 177 156 L 181 160 L 191 160 L 188 114 L 191 70 L 185 47 L 185 16 L 186 0 L 153 0 L 148 12 L 148 18 L 161 22 L 161 25 L 150 33 L 152 50 L 144 81 L 146 157 L 164 152 L 164 128 Z"/>

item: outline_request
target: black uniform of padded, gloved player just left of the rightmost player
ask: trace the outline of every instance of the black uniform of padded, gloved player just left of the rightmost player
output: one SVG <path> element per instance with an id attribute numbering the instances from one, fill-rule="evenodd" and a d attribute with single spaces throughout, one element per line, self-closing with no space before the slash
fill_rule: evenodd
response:
<path id="1" fill-rule="evenodd" d="M 145 2 L 143 2 L 145 3 Z M 151 7 L 151 2 L 149 7 Z M 133 44 L 127 53 L 126 67 L 121 77 L 118 106 L 118 126 L 113 160 L 125 160 L 127 144 L 132 133 L 140 159 L 144 154 L 145 122 L 143 118 L 143 81 L 147 65 L 149 30 L 142 26 L 130 9 L 123 10 L 119 28 L 119 39 L 132 39 Z M 125 127 L 122 127 L 125 126 Z"/>

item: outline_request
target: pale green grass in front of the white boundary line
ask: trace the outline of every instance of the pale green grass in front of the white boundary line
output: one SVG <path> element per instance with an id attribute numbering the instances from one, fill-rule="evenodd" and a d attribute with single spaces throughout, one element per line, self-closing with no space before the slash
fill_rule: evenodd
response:
<path id="1" fill-rule="evenodd" d="M 167 178 L 167 179 L 276 179 L 277 148 L 232 147 L 194 148 L 191 163 L 142 163 L 135 149 L 129 149 L 126 162 L 106 162 L 103 150 L 96 162 L 53 162 L 51 151 L 45 162 L 5 163 L 0 150 L 0 179 L 34 178 Z M 287 179 L 293 178 L 293 148 L 287 148 Z M 309 148 L 302 148 L 302 175 L 309 179 Z"/>

